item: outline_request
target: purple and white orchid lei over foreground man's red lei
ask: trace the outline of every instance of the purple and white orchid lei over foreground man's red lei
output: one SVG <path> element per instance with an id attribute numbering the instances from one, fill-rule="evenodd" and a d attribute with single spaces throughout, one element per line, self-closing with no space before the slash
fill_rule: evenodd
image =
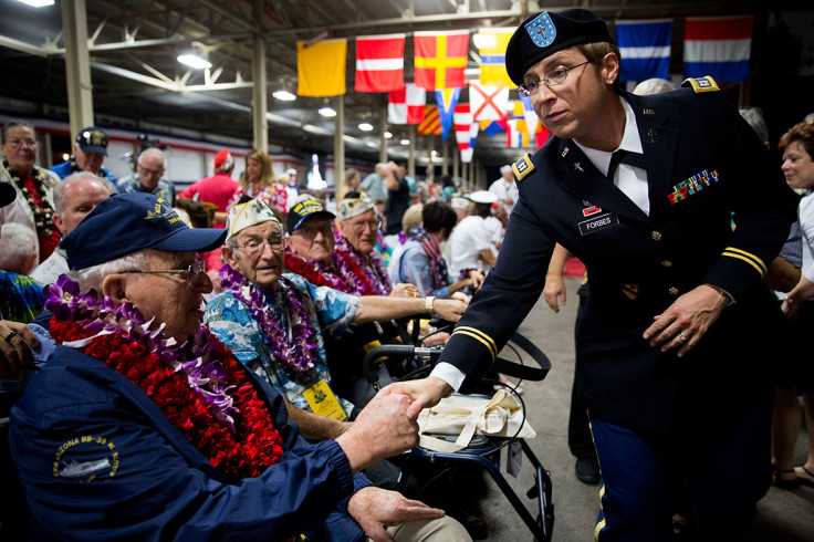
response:
<path id="1" fill-rule="evenodd" d="M 97 332 L 92 337 L 64 343 L 65 346 L 81 348 L 111 333 L 138 342 L 173 371 L 182 373 L 189 387 L 205 397 L 209 413 L 234 432 L 238 408 L 230 395 L 234 386 L 226 385 L 226 369 L 220 354 L 213 351 L 217 341 L 207 326 L 201 325 L 195 335 L 178 344 L 174 337 L 165 336 L 164 323 L 150 330 L 155 319 L 145 321 L 133 303 L 116 305 L 111 298 L 93 289 L 81 293 L 79 283 L 66 274 L 61 275 L 55 284 L 46 285 L 43 298 L 45 309 L 56 320 L 74 321 L 88 331 Z"/>

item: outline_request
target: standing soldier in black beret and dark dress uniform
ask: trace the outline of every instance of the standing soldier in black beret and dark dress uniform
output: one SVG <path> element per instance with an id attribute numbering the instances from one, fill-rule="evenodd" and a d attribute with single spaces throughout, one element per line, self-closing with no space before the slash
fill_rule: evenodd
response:
<path id="1" fill-rule="evenodd" d="M 576 378 L 602 467 L 597 540 L 664 540 L 674 492 L 698 539 L 744 540 L 771 482 L 764 361 L 783 325 L 763 277 L 797 198 L 711 77 L 620 91 L 619 51 L 591 11 L 531 15 L 505 59 L 555 137 L 514 164 L 498 263 L 439 364 L 398 389 L 417 409 L 477 379 L 560 242 L 589 275 Z"/>

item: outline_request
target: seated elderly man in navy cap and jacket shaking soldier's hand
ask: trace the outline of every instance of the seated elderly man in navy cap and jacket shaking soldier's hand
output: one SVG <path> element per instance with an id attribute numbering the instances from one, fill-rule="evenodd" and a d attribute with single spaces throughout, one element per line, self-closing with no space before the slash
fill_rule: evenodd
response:
<path id="1" fill-rule="evenodd" d="M 77 282 L 46 286 L 53 316 L 40 322 L 55 344 L 11 411 L 31 538 L 399 540 L 440 521 L 437 540 L 467 540 L 441 511 L 354 475 L 418 441 L 405 396 L 382 393 L 311 446 L 282 397 L 201 326 L 212 284 L 196 252 L 225 234 L 127 194 L 63 240 Z"/>

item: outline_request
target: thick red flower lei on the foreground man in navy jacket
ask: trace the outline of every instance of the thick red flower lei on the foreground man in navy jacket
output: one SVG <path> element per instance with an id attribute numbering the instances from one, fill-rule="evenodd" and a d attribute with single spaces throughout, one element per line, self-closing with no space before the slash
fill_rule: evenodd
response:
<path id="1" fill-rule="evenodd" d="M 94 337 L 94 335 L 96 335 Z M 223 343 L 209 334 L 210 361 L 218 359 L 238 413 L 234 432 L 207 408 L 195 392 L 158 355 L 125 333 L 97 335 L 74 321 L 51 319 L 51 336 L 60 344 L 94 337 L 80 352 L 113 367 L 136 384 L 229 483 L 261 475 L 282 457 L 282 438 L 265 403 L 246 377 L 246 369 Z"/>

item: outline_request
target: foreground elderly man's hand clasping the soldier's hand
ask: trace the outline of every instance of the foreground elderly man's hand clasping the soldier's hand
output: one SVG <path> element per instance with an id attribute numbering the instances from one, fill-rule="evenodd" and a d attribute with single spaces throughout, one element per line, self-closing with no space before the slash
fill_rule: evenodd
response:
<path id="1" fill-rule="evenodd" d="M 382 390 L 336 439 L 354 472 L 418 445 L 418 424 L 407 416 L 410 403 L 407 395 Z"/>

